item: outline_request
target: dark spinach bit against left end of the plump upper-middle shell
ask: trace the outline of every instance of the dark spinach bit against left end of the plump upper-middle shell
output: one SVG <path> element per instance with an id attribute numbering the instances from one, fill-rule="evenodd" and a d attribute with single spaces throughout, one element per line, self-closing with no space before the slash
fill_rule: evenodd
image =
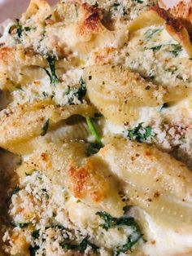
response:
<path id="1" fill-rule="evenodd" d="M 86 89 L 86 83 L 81 77 L 80 79 L 80 87 L 79 88 L 72 88 L 68 86 L 67 90 L 65 91 L 65 94 L 68 95 L 68 104 L 74 105 L 74 100 L 77 98 L 78 100 L 83 103 L 83 98 L 86 95 L 87 89 Z"/>

